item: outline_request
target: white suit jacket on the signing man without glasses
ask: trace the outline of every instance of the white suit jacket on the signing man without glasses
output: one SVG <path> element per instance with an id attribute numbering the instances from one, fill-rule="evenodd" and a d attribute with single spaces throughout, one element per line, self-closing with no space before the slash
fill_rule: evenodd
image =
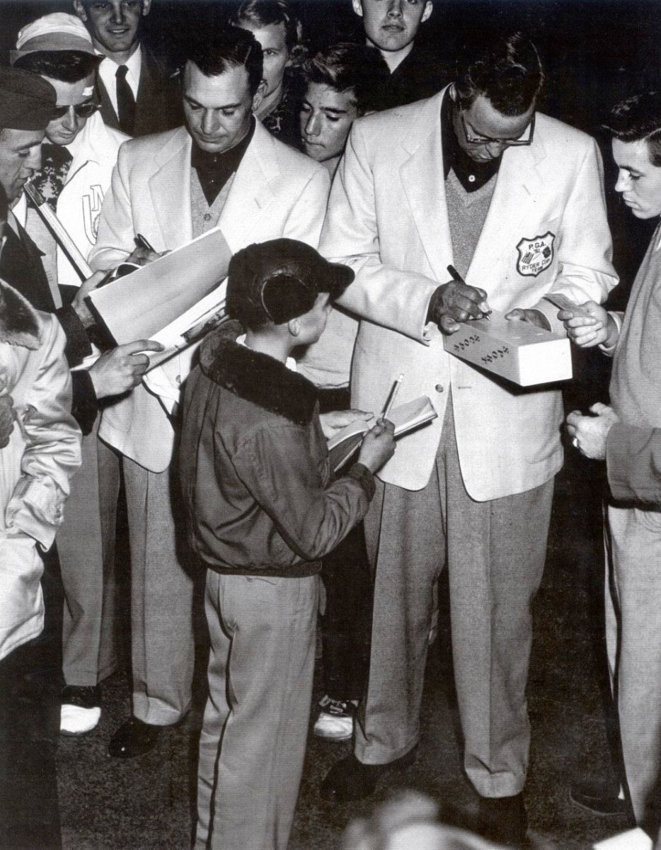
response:
<path id="1" fill-rule="evenodd" d="M 94 269 L 110 269 L 133 252 L 140 233 L 157 252 L 193 238 L 191 139 L 185 127 L 123 144 L 99 220 Z M 316 247 L 329 177 L 323 166 L 274 139 L 257 122 L 218 226 L 232 252 L 285 236 Z M 182 358 L 184 382 L 189 358 Z M 139 385 L 106 408 L 99 436 L 152 472 L 172 459 L 174 432 L 159 399 Z"/>

